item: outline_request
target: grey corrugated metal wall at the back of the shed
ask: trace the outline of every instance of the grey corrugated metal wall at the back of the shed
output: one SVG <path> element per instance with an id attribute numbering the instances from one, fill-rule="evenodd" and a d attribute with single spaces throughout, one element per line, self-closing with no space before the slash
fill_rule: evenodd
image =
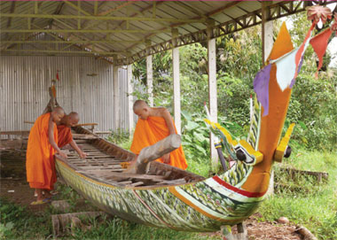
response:
<path id="1" fill-rule="evenodd" d="M 80 122 L 97 122 L 98 130 L 114 129 L 113 66 L 92 57 L 2 56 L 0 58 L 0 129 L 28 130 L 49 102 L 56 78 L 59 105 L 80 114 Z M 127 129 L 127 70 L 119 68 L 121 128 Z"/>

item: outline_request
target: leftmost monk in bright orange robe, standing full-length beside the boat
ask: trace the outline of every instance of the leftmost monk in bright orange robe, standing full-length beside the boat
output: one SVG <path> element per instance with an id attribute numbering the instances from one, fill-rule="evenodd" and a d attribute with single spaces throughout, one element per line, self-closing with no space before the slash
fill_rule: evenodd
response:
<path id="1" fill-rule="evenodd" d="M 50 191 L 56 182 L 54 154 L 67 159 L 67 154 L 58 147 L 58 131 L 56 123 L 59 123 L 65 112 L 61 107 L 56 107 L 53 112 L 41 115 L 35 120 L 30 129 L 26 170 L 27 182 L 37 193 L 37 199 L 33 205 L 43 204 L 51 199 Z M 44 192 L 44 196 L 43 196 Z"/>

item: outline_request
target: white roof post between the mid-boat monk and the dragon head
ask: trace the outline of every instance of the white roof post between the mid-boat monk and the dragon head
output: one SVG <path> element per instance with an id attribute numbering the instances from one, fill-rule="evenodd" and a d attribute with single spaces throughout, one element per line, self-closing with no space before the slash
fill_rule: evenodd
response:
<path id="1" fill-rule="evenodd" d="M 216 38 L 213 37 L 214 21 L 208 24 L 208 102 L 212 121 L 217 122 L 217 91 L 216 91 Z M 212 170 L 216 172 L 218 156 L 214 146 L 213 135 L 209 135 L 210 157 Z"/>

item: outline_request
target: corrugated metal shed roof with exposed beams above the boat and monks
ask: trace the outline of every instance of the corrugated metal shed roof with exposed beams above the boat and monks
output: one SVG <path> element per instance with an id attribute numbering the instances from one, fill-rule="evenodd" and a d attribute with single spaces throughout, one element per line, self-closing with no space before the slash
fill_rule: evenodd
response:
<path id="1" fill-rule="evenodd" d="M 310 4 L 277 1 L 264 7 L 270 20 L 301 12 Z M 1 1 L 1 54 L 70 54 L 58 43 L 27 42 L 45 33 L 54 42 L 74 44 L 78 50 L 73 56 L 90 51 L 112 61 L 117 55 L 117 64 L 125 65 L 171 49 L 172 37 L 181 46 L 208 39 L 209 26 L 214 29 L 209 37 L 216 37 L 260 24 L 262 5 L 263 1 Z M 40 50 L 23 49 L 23 41 Z"/>

